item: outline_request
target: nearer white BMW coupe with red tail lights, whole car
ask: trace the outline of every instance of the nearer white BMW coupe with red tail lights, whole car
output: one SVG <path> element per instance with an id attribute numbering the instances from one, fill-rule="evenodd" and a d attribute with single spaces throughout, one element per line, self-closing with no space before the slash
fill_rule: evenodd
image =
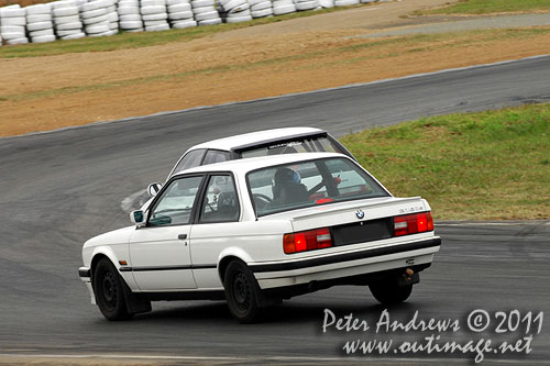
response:
<path id="1" fill-rule="evenodd" d="M 84 244 L 91 302 L 109 320 L 151 301 L 223 300 L 240 322 L 336 285 L 405 301 L 441 239 L 428 202 L 395 198 L 333 153 L 229 160 L 172 176 L 134 225 Z"/>

